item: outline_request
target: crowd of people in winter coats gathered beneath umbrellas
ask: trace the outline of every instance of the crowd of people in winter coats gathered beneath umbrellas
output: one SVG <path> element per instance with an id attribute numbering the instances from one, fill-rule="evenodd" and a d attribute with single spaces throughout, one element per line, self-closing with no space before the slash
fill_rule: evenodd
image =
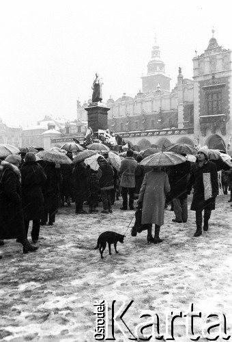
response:
<path id="1" fill-rule="evenodd" d="M 72 159 L 72 152 L 68 151 L 67 156 Z M 136 210 L 131 235 L 147 230 L 147 242 L 158 244 L 162 241 L 160 227 L 164 224 L 164 209 L 169 204 L 173 205 L 173 222 L 188 221 L 187 198 L 192 189 L 190 210 L 196 213 L 194 237 L 199 237 L 202 229 L 209 229 L 218 195 L 219 166 L 208 157 L 207 149 L 201 148 L 195 163 L 147 167 L 141 164 L 143 156 L 135 156 L 129 149 L 119 170 L 111 165 L 107 153 L 98 157 L 98 170 L 92 170 L 85 161 L 57 164 L 37 162 L 34 153 L 27 153 L 23 161 L 19 155 L 9 155 L 0 164 L 0 245 L 5 239 L 16 239 L 23 245 L 23 253 L 33 252 L 38 249 L 35 244 L 40 226 L 53 225 L 59 207 L 70 207 L 75 202 L 76 215 L 96 214 L 102 202 L 100 213 L 108 215 L 119 196 L 122 197 L 120 210 Z M 232 192 L 232 169 L 226 165 L 222 170 L 222 185 L 224 194 L 228 188 Z M 84 203 L 89 206 L 88 211 Z M 33 244 L 27 239 L 30 222 Z"/>

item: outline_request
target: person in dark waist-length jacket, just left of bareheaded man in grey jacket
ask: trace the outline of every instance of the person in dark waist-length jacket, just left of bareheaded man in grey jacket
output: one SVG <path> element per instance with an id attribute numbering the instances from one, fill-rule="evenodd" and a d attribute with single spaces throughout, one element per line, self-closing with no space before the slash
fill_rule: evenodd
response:
<path id="1" fill-rule="evenodd" d="M 104 159 L 104 157 L 98 157 L 98 174 L 97 178 L 99 181 L 99 187 L 101 190 L 101 198 L 103 204 L 102 213 L 112 213 L 112 205 L 111 205 L 111 189 L 114 187 L 113 182 L 113 168 L 109 163 Z"/>

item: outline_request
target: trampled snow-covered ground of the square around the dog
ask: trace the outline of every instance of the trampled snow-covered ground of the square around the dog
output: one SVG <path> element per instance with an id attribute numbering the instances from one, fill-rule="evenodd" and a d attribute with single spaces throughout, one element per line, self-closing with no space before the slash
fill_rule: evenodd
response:
<path id="1" fill-rule="evenodd" d="M 121 200 L 108 215 L 75 215 L 74 203 L 59 209 L 55 225 L 42 226 L 37 252 L 23 254 L 16 241 L 5 241 L 0 247 L 0 340 L 96 341 L 96 300 L 108 302 L 109 329 L 113 300 L 115 312 L 121 300 L 125 308 L 134 300 L 123 317 L 132 332 L 147 321 L 139 318 L 141 312 L 150 310 L 158 313 L 160 334 L 165 334 L 164 312 L 184 313 L 190 303 L 202 313 L 201 319 L 195 319 L 194 333 L 205 324 L 205 315 L 214 311 L 226 315 L 230 328 L 232 208 L 228 200 L 229 195 L 218 196 L 209 231 L 201 237 L 192 237 L 194 211 L 189 211 L 186 224 L 177 224 L 171 221 L 174 215 L 169 207 L 161 244 L 148 245 L 145 232 L 131 237 L 129 228 L 125 243 L 117 245 L 119 254 L 111 248 L 110 256 L 106 248 L 104 259 L 93 250 L 98 235 L 104 231 L 124 234 L 134 215 L 134 211 L 119 210 Z M 115 324 L 116 341 L 130 341 L 130 333 L 117 321 L 127 337 Z M 184 322 L 185 318 L 177 321 L 175 341 L 190 341 Z M 151 328 L 144 330 L 148 332 Z"/>

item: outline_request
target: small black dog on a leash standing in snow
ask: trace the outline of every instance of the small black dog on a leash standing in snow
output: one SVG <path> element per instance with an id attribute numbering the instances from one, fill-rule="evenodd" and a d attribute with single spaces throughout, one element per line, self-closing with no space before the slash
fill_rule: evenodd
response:
<path id="1" fill-rule="evenodd" d="M 121 244 L 124 243 L 124 237 L 126 237 L 125 235 L 121 235 L 115 232 L 104 232 L 102 234 L 99 235 L 98 237 L 98 244 L 96 246 L 96 248 L 94 248 L 95 250 L 97 250 L 99 248 L 101 257 L 103 259 L 103 252 L 106 249 L 106 242 L 108 242 L 108 252 L 111 255 L 111 244 L 113 244 L 115 246 L 115 252 L 117 252 L 117 242 L 121 242 Z"/>

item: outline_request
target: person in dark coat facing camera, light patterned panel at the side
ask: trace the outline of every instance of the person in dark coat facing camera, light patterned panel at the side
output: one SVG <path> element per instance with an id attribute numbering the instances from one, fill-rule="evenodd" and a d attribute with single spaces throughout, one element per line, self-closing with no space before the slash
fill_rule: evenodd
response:
<path id="1" fill-rule="evenodd" d="M 202 234 L 202 212 L 204 211 L 203 230 L 207 231 L 211 211 L 215 209 L 215 198 L 218 195 L 218 172 L 216 165 L 208 160 L 206 148 L 201 148 L 198 151 L 197 162 L 192 164 L 187 186 L 188 194 L 190 194 L 192 186 L 194 194 L 190 209 L 196 211 L 197 231 L 194 233 L 194 237 L 198 237 Z"/>

